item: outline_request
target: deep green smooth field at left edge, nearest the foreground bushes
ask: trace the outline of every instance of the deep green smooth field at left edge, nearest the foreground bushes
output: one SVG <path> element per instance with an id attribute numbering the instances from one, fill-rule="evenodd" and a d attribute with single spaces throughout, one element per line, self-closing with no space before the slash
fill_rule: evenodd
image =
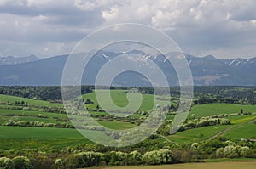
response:
<path id="1" fill-rule="evenodd" d="M 56 148 L 90 144 L 79 132 L 67 128 L 0 127 L 0 149 Z"/>

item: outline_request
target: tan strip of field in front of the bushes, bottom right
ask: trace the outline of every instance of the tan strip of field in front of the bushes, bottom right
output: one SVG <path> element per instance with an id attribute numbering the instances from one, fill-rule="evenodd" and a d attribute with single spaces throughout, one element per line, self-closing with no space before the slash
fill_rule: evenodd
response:
<path id="1" fill-rule="evenodd" d="M 226 161 L 226 162 L 207 162 L 207 163 L 186 163 L 162 166 L 107 166 L 92 167 L 93 169 L 254 169 L 256 161 Z"/>

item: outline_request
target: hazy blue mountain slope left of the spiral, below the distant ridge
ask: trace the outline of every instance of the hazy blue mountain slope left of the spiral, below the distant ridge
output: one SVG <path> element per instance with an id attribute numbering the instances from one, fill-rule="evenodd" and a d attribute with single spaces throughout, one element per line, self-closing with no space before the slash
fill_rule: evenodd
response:
<path id="1" fill-rule="evenodd" d="M 66 59 L 67 55 L 62 55 L 18 65 L 1 65 L 0 84 L 4 86 L 61 85 Z"/>

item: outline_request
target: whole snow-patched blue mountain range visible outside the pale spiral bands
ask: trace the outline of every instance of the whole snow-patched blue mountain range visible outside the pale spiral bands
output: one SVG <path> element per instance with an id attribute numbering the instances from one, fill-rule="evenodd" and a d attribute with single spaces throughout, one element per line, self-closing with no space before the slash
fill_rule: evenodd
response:
<path id="1" fill-rule="evenodd" d="M 177 86 L 175 70 L 165 62 L 164 55 L 149 55 L 132 50 L 127 54 L 141 54 L 140 59 L 151 59 L 166 74 L 170 86 Z M 97 71 L 119 53 L 99 51 L 85 69 L 82 83 L 94 84 Z M 185 54 L 195 85 L 256 86 L 256 57 L 251 59 L 216 59 L 212 55 L 203 58 Z M 37 59 L 34 55 L 25 58 L 0 58 L 0 85 L 4 86 L 53 86 L 61 85 L 62 71 L 68 55 Z M 113 85 L 149 86 L 144 76 L 126 72 L 118 76 Z"/>

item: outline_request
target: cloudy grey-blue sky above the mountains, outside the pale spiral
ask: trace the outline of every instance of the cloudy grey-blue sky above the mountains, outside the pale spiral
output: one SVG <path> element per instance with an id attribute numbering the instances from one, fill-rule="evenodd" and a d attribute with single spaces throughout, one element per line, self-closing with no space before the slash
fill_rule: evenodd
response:
<path id="1" fill-rule="evenodd" d="M 186 54 L 256 57 L 255 0 L 0 0 L 0 57 L 70 54 L 102 26 L 150 25 Z"/>

